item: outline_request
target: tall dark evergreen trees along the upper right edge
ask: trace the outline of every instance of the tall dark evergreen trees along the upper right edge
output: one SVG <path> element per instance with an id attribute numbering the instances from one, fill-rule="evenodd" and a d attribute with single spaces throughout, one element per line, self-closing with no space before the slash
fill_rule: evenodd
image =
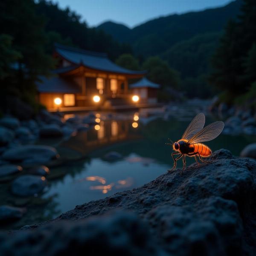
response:
<path id="1" fill-rule="evenodd" d="M 255 81 L 256 1 L 244 0 L 237 21 L 228 23 L 212 59 L 212 84 L 232 100 L 246 93 Z M 230 97 L 232 95 L 232 97 Z"/>

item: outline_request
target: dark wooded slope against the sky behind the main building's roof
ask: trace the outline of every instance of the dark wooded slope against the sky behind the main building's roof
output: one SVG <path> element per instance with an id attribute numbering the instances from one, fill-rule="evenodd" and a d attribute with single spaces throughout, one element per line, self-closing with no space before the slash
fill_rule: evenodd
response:
<path id="1" fill-rule="evenodd" d="M 122 53 L 131 53 L 131 47 L 126 43 L 118 43 L 111 35 L 105 34 L 101 29 L 88 28 L 81 20 L 81 16 L 69 8 L 60 9 L 58 4 L 51 1 L 40 0 L 36 11 L 47 17 L 46 30 L 58 32 L 61 38 L 82 49 L 96 52 L 107 52 L 112 59 Z M 52 49 L 53 50 L 53 49 Z"/>

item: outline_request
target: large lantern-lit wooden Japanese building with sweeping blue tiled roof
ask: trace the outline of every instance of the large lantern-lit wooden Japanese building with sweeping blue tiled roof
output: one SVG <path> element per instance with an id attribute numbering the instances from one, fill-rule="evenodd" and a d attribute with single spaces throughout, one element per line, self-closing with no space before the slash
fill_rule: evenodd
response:
<path id="1" fill-rule="evenodd" d="M 128 79 L 140 79 L 145 71 L 119 67 L 105 53 L 55 45 L 58 68 L 37 84 L 38 99 L 49 110 L 132 103 Z"/>

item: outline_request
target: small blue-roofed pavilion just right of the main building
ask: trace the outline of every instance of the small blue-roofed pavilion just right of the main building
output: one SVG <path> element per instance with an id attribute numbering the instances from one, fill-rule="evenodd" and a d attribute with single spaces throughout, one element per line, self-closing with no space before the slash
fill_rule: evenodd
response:
<path id="1" fill-rule="evenodd" d="M 140 103 L 157 103 L 157 90 L 160 84 L 155 84 L 143 77 L 134 84 L 130 84 L 131 92 L 140 97 Z"/>

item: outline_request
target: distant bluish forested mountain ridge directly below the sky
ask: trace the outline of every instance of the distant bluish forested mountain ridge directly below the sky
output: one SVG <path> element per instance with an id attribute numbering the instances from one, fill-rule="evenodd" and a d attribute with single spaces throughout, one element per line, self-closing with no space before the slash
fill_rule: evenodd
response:
<path id="1" fill-rule="evenodd" d="M 133 29 L 113 22 L 102 23 L 97 28 L 130 43 L 137 55 L 157 55 L 195 35 L 223 30 L 227 21 L 238 15 L 241 3 L 242 0 L 236 0 L 219 8 L 160 17 Z"/>

